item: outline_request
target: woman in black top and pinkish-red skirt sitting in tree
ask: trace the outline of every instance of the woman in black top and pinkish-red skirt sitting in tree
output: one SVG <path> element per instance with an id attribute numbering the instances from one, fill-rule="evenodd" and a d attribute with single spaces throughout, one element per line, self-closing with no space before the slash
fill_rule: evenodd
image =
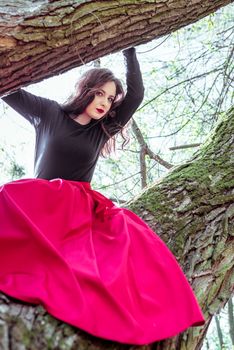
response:
<path id="1" fill-rule="evenodd" d="M 0 188 L 0 291 L 93 335 L 147 344 L 204 319 L 160 238 L 90 187 L 143 99 L 135 49 L 123 53 L 125 97 L 109 70 L 92 69 L 63 106 L 23 90 L 3 98 L 35 127 L 36 178 Z"/>

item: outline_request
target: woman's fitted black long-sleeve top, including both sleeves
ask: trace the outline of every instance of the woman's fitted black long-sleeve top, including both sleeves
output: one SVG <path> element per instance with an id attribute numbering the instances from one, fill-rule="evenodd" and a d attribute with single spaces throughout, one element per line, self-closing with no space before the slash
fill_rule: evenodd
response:
<path id="1" fill-rule="evenodd" d="M 114 118 L 106 117 L 107 130 L 124 126 L 140 105 L 144 88 L 134 48 L 125 50 L 127 93 Z M 67 115 L 59 103 L 35 96 L 24 90 L 3 100 L 26 118 L 36 131 L 35 176 L 42 179 L 62 178 L 90 182 L 107 134 L 100 121 L 92 119 L 81 125 Z"/>

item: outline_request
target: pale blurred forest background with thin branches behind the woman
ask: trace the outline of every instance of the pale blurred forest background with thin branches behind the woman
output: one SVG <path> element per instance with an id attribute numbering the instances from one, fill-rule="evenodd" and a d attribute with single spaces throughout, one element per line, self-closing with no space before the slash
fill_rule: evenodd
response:
<path id="1" fill-rule="evenodd" d="M 145 98 L 111 158 L 100 158 L 92 182 L 120 205 L 188 160 L 209 137 L 234 100 L 234 4 L 164 38 L 138 46 Z M 64 102 L 80 74 L 94 65 L 114 71 L 125 84 L 121 53 L 27 87 Z M 0 103 L 0 182 L 33 177 L 34 131 Z M 203 350 L 234 348 L 233 303 L 216 315 Z"/>

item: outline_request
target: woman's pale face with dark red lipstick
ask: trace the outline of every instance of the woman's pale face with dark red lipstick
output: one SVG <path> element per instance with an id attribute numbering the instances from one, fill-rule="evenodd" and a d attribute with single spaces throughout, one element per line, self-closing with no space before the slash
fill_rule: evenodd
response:
<path id="1" fill-rule="evenodd" d="M 95 93 L 93 101 L 86 107 L 85 114 L 91 119 L 101 119 L 107 114 L 112 106 L 116 95 L 116 86 L 113 81 L 108 81 L 102 85 Z"/>

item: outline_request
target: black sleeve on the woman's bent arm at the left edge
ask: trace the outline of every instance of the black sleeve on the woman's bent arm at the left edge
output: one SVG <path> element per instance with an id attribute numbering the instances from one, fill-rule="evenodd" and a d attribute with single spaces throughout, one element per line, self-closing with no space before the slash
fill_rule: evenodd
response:
<path id="1" fill-rule="evenodd" d="M 2 99 L 34 127 L 38 126 L 41 121 L 51 118 L 52 109 L 57 104 L 55 101 L 35 96 L 22 89 Z"/>

